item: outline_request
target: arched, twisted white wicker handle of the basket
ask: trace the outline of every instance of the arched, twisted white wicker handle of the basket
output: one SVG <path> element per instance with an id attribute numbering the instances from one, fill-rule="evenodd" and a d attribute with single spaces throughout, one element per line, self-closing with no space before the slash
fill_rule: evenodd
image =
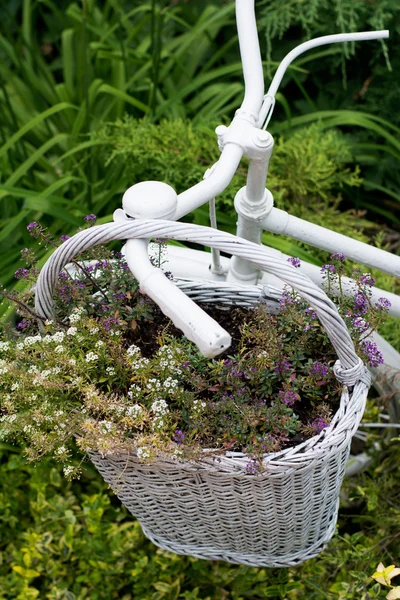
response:
<path id="1" fill-rule="evenodd" d="M 348 386 L 353 386 L 360 380 L 369 386 L 368 370 L 355 353 L 353 341 L 335 304 L 322 289 L 291 264 L 270 254 L 263 246 L 200 225 L 158 219 L 132 219 L 125 223 L 106 223 L 80 231 L 57 248 L 44 265 L 36 284 L 37 314 L 46 319 L 53 317 L 52 295 L 58 275 L 77 254 L 114 240 L 154 237 L 190 241 L 217 248 L 244 258 L 281 279 L 295 289 L 318 315 L 339 358 L 334 367 L 337 379 Z"/>

